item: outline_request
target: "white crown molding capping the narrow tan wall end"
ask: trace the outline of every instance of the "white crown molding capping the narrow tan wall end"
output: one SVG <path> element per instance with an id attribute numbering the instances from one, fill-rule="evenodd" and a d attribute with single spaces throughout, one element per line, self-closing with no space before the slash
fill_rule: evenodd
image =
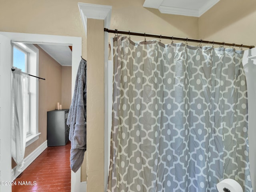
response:
<path id="1" fill-rule="evenodd" d="M 87 36 L 87 19 L 104 20 L 104 27 L 110 27 L 112 6 L 98 5 L 89 3 L 78 3 L 82 22 L 84 24 L 84 31 Z"/>

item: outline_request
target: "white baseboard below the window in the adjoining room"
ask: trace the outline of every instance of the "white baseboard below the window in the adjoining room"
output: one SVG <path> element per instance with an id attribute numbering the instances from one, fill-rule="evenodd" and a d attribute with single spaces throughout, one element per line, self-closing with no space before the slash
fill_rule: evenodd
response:
<path id="1" fill-rule="evenodd" d="M 47 148 L 47 140 L 43 142 L 38 148 L 24 158 L 24 166 L 21 172 L 17 171 L 17 166 L 12 169 L 12 181 L 16 179 L 45 149 Z"/>

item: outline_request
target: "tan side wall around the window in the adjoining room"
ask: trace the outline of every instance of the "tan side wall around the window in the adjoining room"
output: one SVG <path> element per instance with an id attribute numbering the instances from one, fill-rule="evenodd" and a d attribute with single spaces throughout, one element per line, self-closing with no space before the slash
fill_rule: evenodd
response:
<path id="1" fill-rule="evenodd" d="M 39 80 L 38 98 L 38 131 L 39 139 L 28 146 L 25 157 L 34 151 L 47 139 L 47 111 L 56 109 L 56 103 L 61 102 L 62 68 L 61 65 L 50 57 L 39 46 L 39 76 L 46 80 Z"/>

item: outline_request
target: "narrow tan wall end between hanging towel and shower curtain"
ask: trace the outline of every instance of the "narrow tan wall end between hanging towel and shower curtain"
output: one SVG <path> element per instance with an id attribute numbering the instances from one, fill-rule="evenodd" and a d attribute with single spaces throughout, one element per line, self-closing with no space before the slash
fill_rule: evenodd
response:
<path id="1" fill-rule="evenodd" d="M 87 19 L 87 190 L 104 191 L 104 20 Z M 101 52 L 103 54 L 98 54 Z M 89 65 L 90 63 L 90 65 Z M 97 77 L 97 78 L 95 78 Z M 97 152 L 97 153 L 96 153 Z M 95 176 L 100 179 L 96 185 Z"/>

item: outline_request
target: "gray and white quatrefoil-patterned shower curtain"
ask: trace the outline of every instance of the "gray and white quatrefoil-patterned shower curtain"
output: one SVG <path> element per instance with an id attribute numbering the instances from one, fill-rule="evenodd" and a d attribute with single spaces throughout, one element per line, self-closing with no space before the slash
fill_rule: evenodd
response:
<path id="1" fill-rule="evenodd" d="M 113 38 L 108 192 L 252 192 L 243 51 Z"/>

